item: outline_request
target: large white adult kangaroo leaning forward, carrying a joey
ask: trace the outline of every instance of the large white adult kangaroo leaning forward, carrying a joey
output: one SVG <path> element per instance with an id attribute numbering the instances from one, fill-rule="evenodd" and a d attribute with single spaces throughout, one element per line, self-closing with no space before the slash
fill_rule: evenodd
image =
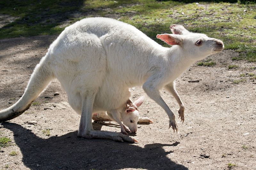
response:
<path id="1" fill-rule="evenodd" d="M 21 115 L 49 82 L 58 78 L 70 106 L 81 114 L 78 129 L 81 137 L 137 142 L 122 133 L 94 130 L 92 114 L 107 111 L 121 119 L 120 113 L 131 96 L 129 88 L 141 85 L 163 107 L 170 119 L 169 128 L 172 126 L 177 132 L 175 115 L 159 90 L 165 88 L 174 96 L 184 122 L 184 104 L 174 80 L 193 62 L 220 52 L 224 45 L 205 34 L 191 33 L 183 26 L 170 28 L 173 34 L 157 35 L 173 45 L 165 48 L 134 26 L 115 19 L 85 18 L 66 27 L 36 65 L 20 100 L 0 111 L 0 122 Z"/>

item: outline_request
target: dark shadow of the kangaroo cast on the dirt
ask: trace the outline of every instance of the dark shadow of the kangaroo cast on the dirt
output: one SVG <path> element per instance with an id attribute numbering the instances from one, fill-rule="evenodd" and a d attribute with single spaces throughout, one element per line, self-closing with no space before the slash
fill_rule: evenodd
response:
<path id="1" fill-rule="evenodd" d="M 141 148 L 112 140 L 78 138 L 77 131 L 45 139 L 16 123 L 3 125 L 13 132 L 23 164 L 30 169 L 188 169 L 167 158 L 172 151 L 163 149 L 163 146 L 176 146 L 178 142 L 147 144 Z"/>

